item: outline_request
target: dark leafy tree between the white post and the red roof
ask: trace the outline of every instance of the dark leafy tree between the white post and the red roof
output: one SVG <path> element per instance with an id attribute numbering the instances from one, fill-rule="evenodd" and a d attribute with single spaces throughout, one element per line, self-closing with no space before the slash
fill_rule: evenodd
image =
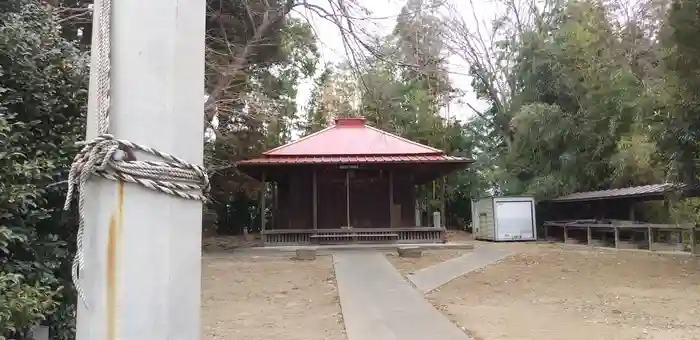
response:
<path id="1" fill-rule="evenodd" d="M 232 206 L 253 207 L 260 186 L 234 164 L 290 140 L 296 125 L 299 82 L 316 71 L 318 53 L 310 26 L 291 17 L 281 19 L 279 25 L 280 40 L 256 52 L 260 54 L 255 63 L 251 60 L 246 72 L 238 73 L 237 85 L 221 92 L 215 106 L 216 137 L 206 147 L 212 183 L 212 202 L 207 207 L 216 212 L 221 233 L 241 233 L 253 227 L 249 211 L 254 209 L 239 207 L 234 209 L 238 215 L 231 216 Z"/>

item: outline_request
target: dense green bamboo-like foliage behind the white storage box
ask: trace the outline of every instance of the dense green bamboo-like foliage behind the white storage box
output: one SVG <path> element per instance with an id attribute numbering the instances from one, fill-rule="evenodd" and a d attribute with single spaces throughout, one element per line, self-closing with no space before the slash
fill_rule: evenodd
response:
<path id="1" fill-rule="evenodd" d="M 501 129 L 488 136 L 495 147 L 482 151 L 495 159 L 484 176 L 496 191 L 543 199 L 663 181 L 649 128 L 654 83 L 640 78 L 647 74 L 628 54 L 635 23 L 618 25 L 612 10 L 594 1 L 560 3 L 495 44 L 494 54 L 514 55 L 514 67 L 502 73 L 511 92 L 496 96 L 503 100 L 482 117 Z M 493 78 L 476 77 L 482 97 L 494 97 L 482 80 Z"/>

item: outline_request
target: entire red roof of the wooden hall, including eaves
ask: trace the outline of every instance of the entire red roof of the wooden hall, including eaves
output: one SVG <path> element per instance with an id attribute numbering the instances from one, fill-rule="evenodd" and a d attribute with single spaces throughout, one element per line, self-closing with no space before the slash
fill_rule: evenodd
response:
<path id="1" fill-rule="evenodd" d="M 338 118 L 335 125 L 263 153 L 246 164 L 471 162 L 365 124 L 364 117 Z"/>

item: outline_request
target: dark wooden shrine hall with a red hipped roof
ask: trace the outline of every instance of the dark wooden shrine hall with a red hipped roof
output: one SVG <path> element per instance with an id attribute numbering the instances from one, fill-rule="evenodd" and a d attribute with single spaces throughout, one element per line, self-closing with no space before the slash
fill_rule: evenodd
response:
<path id="1" fill-rule="evenodd" d="M 237 167 L 270 193 L 260 204 L 265 244 L 437 243 L 445 227 L 420 217 L 416 187 L 470 163 L 353 117 Z"/>

